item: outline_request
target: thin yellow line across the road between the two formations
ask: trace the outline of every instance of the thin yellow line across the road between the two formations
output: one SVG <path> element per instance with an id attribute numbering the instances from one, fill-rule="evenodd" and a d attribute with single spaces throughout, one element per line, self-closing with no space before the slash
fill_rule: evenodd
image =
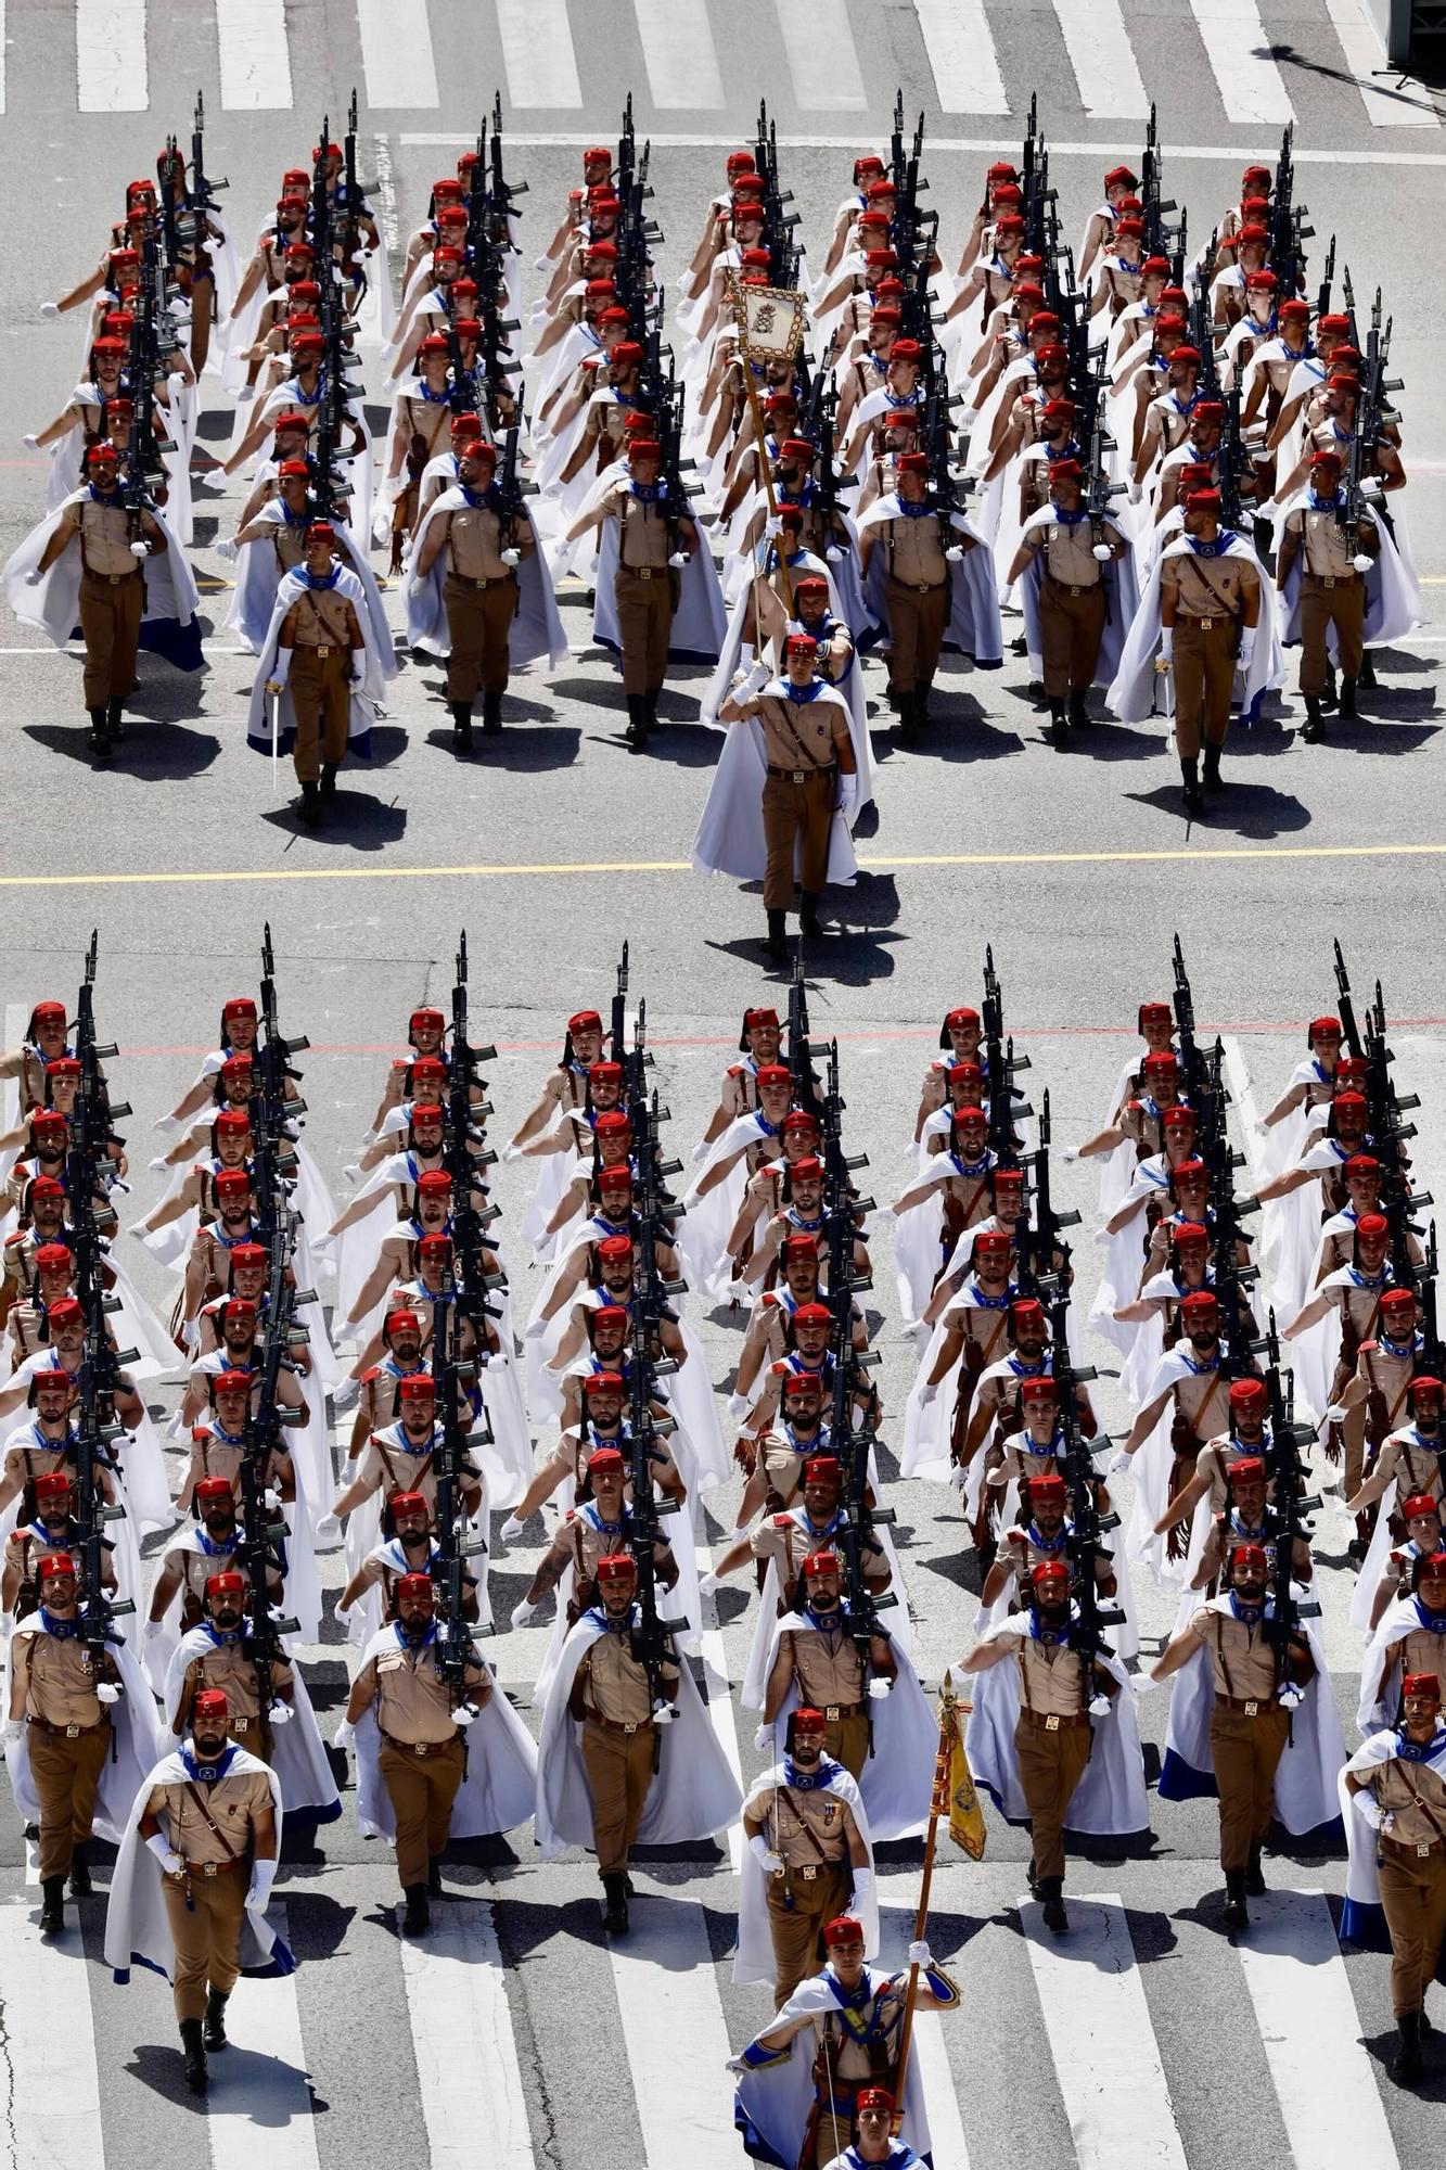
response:
<path id="1" fill-rule="evenodd" d="M 938 851 L 860 859 L 866 875 L 897 866 L 1190 866 L 1196 859 L 1439 859 L 1442 844 L 1205 844 L 1198 851 Z M 560 859 L 510 866 L 243 866 L 172 875 L 0 875 L 0 890 L 137 890 L 215 881 L 506 881 L 556 875 L 690 875 L 688 859 Z"/>

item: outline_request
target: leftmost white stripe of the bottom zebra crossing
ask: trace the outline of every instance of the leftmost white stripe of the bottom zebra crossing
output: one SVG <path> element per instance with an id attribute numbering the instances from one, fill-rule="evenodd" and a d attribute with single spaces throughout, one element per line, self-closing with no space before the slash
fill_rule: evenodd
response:
<path id="1" fill-rule="evenodd" d="M 2 2170 L 104 2170 L 87 1975 L 74 1905 L 54 1942 L 41 1940 L 30 1899 L 0 1905 L 0 2022 L 13 2090 Z"/>

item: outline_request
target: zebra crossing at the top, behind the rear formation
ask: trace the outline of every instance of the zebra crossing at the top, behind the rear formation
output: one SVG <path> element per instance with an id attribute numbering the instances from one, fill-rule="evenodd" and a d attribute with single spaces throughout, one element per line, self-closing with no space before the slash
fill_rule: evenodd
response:
<path id="1" fill-rule="evenodd" d="M 167 11 L 161 0 L 72 0 L 74 35 L 67 65 L 74 69 L 74 102 L 80 113 L 143 113 L 161 106 L 163 85 L 152 80 L 167 61 Z M 1031 50 L 1047 52 L 1060 39 L 1075 78 L 1086 122 L 1138 126 L 1151 111 L 1179 98 L 1181 82 L 1198 87 L 1190 113 L 1201 124 L 1209 115 L 1209 89 L 1220 119 L 1229 126 L 1279 130 L 1298 119 L 1290 69 L 1283 56 L 1303 61 L 1303 78 L 1333 85 L 1342 119 L 1372 130 L 1437 130 L 1439 113 L 1429 93 L 1403 91 L 1385 78 L 1383 56 L 1363 0 L 1316 0 L 1316 15 L 1292 20 L 1292 39 L 1272 39 L 1259 0 L 1188 0 L 1170 17 L 1170 67 L 1166 80 L 1151 80 L 1157 65 L 1142 67 L 1142 50 L 1157 54 L 1159 15 L 1144 0 L 1044 0 L 1031 13 Z M 630 69 L 636 52 L 638 95 L 651 113 L 749 111 L 760 91 L 784 93 L 795 115 L 808 124 L 823 115 L 871 115 L 877 124 L 892 104 L 899 76 L 931 91 L 944 122 L 1016 119 L 1027 111 L 1033 80 L 1005 80 L 1010 24 L 1018 24 L 1005 0 L 908 0 L 890 15 L 888 43 L 879 46 L 875 11 L 866 0 L 764 0 L 758 35 L 738 39 L 723 0 L 484 0 L 467 11 L 465 46 L 460 11 L 445 0 L 354 0 L 356 59 L 373 115 L 436 113 L 462 87 L 495 78 L 512 115 L 578 115 L 593 102 L 612 117 L 612 80 L 601 80 L 599 61 L 610 59 L 610 76 Z M 345 39 L 347 9 L 326 17 L 326 28 Z M 284 0 L 208 0 L 195 9 L 215 33 L 219 106 L 224 113 L 284 111 L 293 102 L 295 59 L 317 33 Z M 17 11 L 11 9 L 11 28 Z M 46 13 L 46 24 L 63 15 Z M 1196 43 L 1190 65 L 1188 41 Z M 4 111 L 4 4 L 0 0 L 0 113 Z M 52 39 L 56 59 L 63 39 Z M 769 80 L 766 63 L 777 52 L 782 80 Z M 439 54 L 443 56 L 439 63 Z M 1177 59 L 1179 54 L 1179 59 Z M 871 65 L 888 56 L 888 67 Z M 341 67 L 352 56 L 317 54 Z M 465 74 L 449 67 L 465 61 Z M 154 63 L 154 65 L 152 65 Z M 897 65 L 895 65 L 897 63 Z M 11 69 L 13 72 L 13 69 Z M 1033 78 L 1033 69 L 1029 69 Z M 1296 80 L 1303 80 L 1296 78 Z M 56 95 L 59 89 L 56 89 Z M 475 98 L 473 98 L 475 102 Z M 1055 122 L 1066 119 L 1051 100 Z"/>

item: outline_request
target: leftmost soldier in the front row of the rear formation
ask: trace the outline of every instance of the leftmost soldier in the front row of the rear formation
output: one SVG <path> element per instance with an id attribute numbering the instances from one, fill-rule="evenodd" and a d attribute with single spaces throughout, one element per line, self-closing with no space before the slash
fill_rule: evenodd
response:
<path id="1" fill-rule="evenodd" d="M 137 644 L 145 610 L 145 558 L 167 549 L 154 514 L 132 514 L 119 495 L 119 464 L 113 445 L 87 454 L 89 490 L 67 499 L 39 564 L 26 575 L 39 586 L 72 542 L 80 545 L 80 631 L 85 636 L 85 705 L 91 718 L 91 753 L 109 760 L 126 736 L 122 705 L 135 690 Z"/>

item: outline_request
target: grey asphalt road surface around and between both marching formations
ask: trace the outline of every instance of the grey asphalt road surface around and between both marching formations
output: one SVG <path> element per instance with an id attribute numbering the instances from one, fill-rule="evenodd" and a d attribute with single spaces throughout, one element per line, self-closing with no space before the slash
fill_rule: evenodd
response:
<path id="1" fill-rule="evenodd" d="M 104 17 L 104 20 L 102 20 Z M 219 17 L 219 24 L 217 24 Z M 1168 992 L 1179 929 L 1203 1026 L 1218 1029 L 1238 1083 L 1240 1144 L 1255 1152 L 1255 1109 L 1270 1105 L 1303 1050 L 1303 1022 L 1329 1007 L 1331 937 L 1368 987 L 1385 985 L 1403 1087 L 1422 1094 L 1418 1165 L 1442 1178 L 1444 1003 L 1435 675 L 1446 627 L 1442 464 L 1433 410 L 1439 352 L 1446 137 L 1431 93 L 1363 76 L 1353 0 L 1212 9 L 1183 0 L 1125 7 L 1055 0 L 988 9 L 814 4 L 749 17 L 706 0 L 530 7 L 497 0 L 352 4 L 282 11 L 39 7 L 11 0 L 4 46 L 7 174 L 15 215 L 0 241 L 7 367 L 0 373 L 0 547 L 30 527 L 41 464 L 20 445 L 61 406 L 78 326 L 39 323 L 41 299 L 93 260 L 124 182 L 152 167 L 167 130 L 185 135 L 195 87 L 211 113 L 208 163 L 230 176 L 228 213 L 250 237 L 282 167 L 300 163 L 324 113 L 337 128 L 352 82 L 363 98 L 369 174 L 391 234 L 426 208 L 502 87 L 508 165 L 530 182 L 523 256 L 543 247 L 578 148 L 608 139 L 627 89 L 654 139 L 654 210 L 671 282 L 721 182 L 725 150 L 747 139 L 758 98 L 779 128 L 779 158 L 803 232 L 821 250 L 855 148 L 888 126 L 895 85 L 925 113 L 931 202 L 944 254 L 957 250 L 990 156 L 1016 148 L 1029 93 L 1051 137 L 1064 230 L 1092 208 L 1101 169 L 1138 154 L 1157 100 L 1170 193 L 1203 234 L 1235 197 L 1248 154 L 1272 154 L 1296 119 L 1298 189 L 1316 247 L 1333 230 L 1357 289 L 1379 280 L 1394 312 L 1392 362 L 1407 382 L 1405 499 L 1426 623 L 1390 653 L 1368 718 L 1324 746 L 1298 738 L 1301 707 L 1235 733 L 1231 792 L 1207 822 L 1177 809 L 1175 764 L 1153 727 L 1103 723 L 1068 755 L 1040 742 L 1023 664 L 981 679 L 944 673 L 923 751 L 890 742 L 875 712 L 877 831 L 853 890 L 827 898 L 834 931 L 810 957 L 819 1035 L 838 1033 L 849 1144 L 871 1154 L 879 1200 L 903 1170 L 918 1074 L 938 1018 L 977 1000 L 992 944 L 1007 1022 L 1029 1052 L 1031 1096 L 1049 1085 L 1055 1137 L 1105 1113 L 1133 1046 L 1133 1011 Z M 37 217 L 37 206 L 46 213 Z M 395 258 L 393 258 L 395 269 Z M 532 273 L 528 273 L 532 282 Z M 367 369 L 380 382 L 376 360 Z M 380 423 L 384 408 L 371 408 Z M 206 388 L 202 445 L 219 451 L 230 417 Z M 208 460 L 198 454 L 198 471 Z M 217 534 L 234 529 L 241 490 L 202 486 L 198 573 L 219 627 L 230 569 Z M 399 597 L 389 599 L 393 625 Z M 378 762 L 347 773 L 343 816 L 302 835 L 269 796 L 265 762 L 243 742 L 250 660 L 213 636 L 206 673 L 180 679 L 143 660 L 124 753 L 106 775 L 85 760 L 78 662 L 0 623 L 7 916 L 0 1000 L 7 1044 L 41 994 L 69 996 L 100 927 L 98 1018 L 119 1039 L 117 1085 L 135 1102 L 132 1217 L 158 1196 L 145 1172 L 148 1124 L 176 1102 L 213 1044 L 219 1000 L 254 987 L 269 916 L 289 1029 L 306 1031 L 308 1141 L 341 1200 L 406 1011 L 445 996 L 460 927 L 473 959 L 475 1035 L 497 1042 L 497 1131 L 510 1135 L 556 1059 L 560 1020 L 604 1005 L 623 937 L 647 996 L 658 1078 L 686 1154 L 712 1107 L 736 1020 L 764 987 L 760 901 L 688 870 L 688 846 L 716 742 L 695 723 L 699 677 L 662 703 L 669 727 L 647 755 L 621 742 L 621 686 L 588 651 L 582 595 L 565 597 L 573 660 L 515 686 L 504 738 L 471 764 L 449 753 L 434 671 L 395 681 Z M 877 668 L 871 692 L 877 697 Z M 775 990 L 782 992 L 782 990 Z M 1242 1098 L 1238 1094 L 1238 1098 Z M 1057 1167 L 1062 1202 L 1094 1215 L 1094 1178 Z M 528 1176 L 497 1172 L 502 1233 L 517 1230 Z M 517 1306 L 536 1274 L 510 1237 Z M 158 1306 L 169 1287 L 128 1246 Z M 1081 1239 L 1088 1306 L 1099 1252 Z M 897 1415 L 912 1350 L 875 1246 L 881 1391 Z M 710 1371 L 727 1393 L 738 1326 L 699 1317 Z M 1112 1430 L 1129 1421 L 1096 1343 Z M 174 1387 L 152 1395 L 174 1406 Z M 350 1419 L 347 1419 L 350 1421 Z M 890 1434 L 886 1430 L 886 1445 Z M 886 1456 L 888 1465 L 888 1456 Z M 706 1543 L 732 1528 L 736 1486 L 708 1502 Z M 929 1686 L 971 1643 L 973 1556 L 955 1495 L 890 1484 L 910 1606 Z M 506 1619 L 525 1588 L 532 1543 L 495 1547 L 493 1604 Z M 1320 1517 L 1327 1649 L 1355 1740 L 1359 1641 L 1346 1628 L 1346 1530 Z M 339 1556 L 328 1573 L 337 1578 Z M 1172 1599 L 1136 1575 L 1146 1651 Z M 753 1719 L 736 1708 L 751 1634 L 743 1584 L 719 1599 L 716 1723 L 747 1777 L 760 1764 Z M 313 1654 L 313 1695 L 330 1729 L 345 1695 L 345 1647 Z M 545 1628 L 489 1645 L 528 1712 Z M 730 1710 L 721 1677 L 734 1688 Z M 1164 1697 L 1142 1706 L 1146 1753 Z M 1153 1771 L 1153 1762 L 1151 1762 Z M 1020 1912 L 1027 1840 L 990 1816 L 981 1864 L 942 1866 L 934 1949 L 960 1979 L 964 2009 L 925 2029 L 925 2072 L 940 2170 L 1077 2161 L 1094 2170 L 1220 2159 L 1314 2166 L 1420 2163 L 1435 2148 L 1439 2057 L 1418 2094 L 1383 2070 L 1394 2031 L 1387 1966 L 1342 1953 L 1333 1918 L 1344 1862 L 1270 1862 L 1277 1890 L 1240 1944 L 1220 1931 L 1209 1803 L 1155 1805 L 1153 1838 L 1094 1847 L 1070 1864 L 1075 1936 L 1042 1940 Z M 918 1849 L 888 1849 L 886 1955 L 899 1957 L 918 1884 Z M 725 1851 L 643 1866 L 636 1931 L 610 1953 L 597 1931 L 595 1875 L 582 1855 L 541 1866 L 530 1831 L 510 1847 L 460 1849 L 456 1894 L 417 1957 L 395 1933 L 391 1860 L 356 1836 L 352 1799 L 324 1851 L 287 1866 L 278 1899 L 302 1957 L 289 1983 L 245 1983 L 239 2048 L 217 2062 L 204 2107 L 180 2092 L 169 1996 L 158 1981 L 113 1988 L 100 1964 L 104 1899 L 83 1910 L 91 1964 L 74 1938 L 35 1940 L 26 1849 L 0 1803 L 0 2163 L 78 2170 L 145 2161 L 232 2166 L 265 2150 L 269 2170 L 430 2159 L 489 2150 L 512 2166 L 740 2159 L 721 2059 L 766 2018 L 766 1996 L 736 1990 L 730 1955 L 736 1879 Z M 454 1964 L 467 1960 L 471 1964 Z M 87 2003 L 89 1999 L 89 2016 Z M 680 2055 L 682 2051 L 682 2055 Z"/>

